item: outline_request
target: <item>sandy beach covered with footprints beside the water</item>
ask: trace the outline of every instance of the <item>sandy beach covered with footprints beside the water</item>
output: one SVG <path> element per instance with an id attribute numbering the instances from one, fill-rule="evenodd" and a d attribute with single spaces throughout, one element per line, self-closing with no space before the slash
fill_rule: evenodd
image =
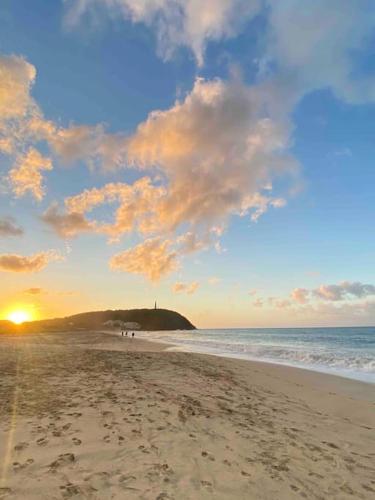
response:
<path id="1" fill-rule="evenodd" d="M 373 384 L 101 332 L 0 367 L 0 499 L 375 496 Z"/>

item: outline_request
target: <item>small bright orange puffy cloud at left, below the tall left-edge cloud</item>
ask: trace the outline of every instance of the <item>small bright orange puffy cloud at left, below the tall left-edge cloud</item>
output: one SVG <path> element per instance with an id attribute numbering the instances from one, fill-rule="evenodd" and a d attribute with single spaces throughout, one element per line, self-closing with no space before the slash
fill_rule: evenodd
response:
<path id="1" fill-rule="evenodd" d="M 25 155 L 19 156 L 8 176 L 14 194 L 19 198 L 30 192 L 41 201 L 45 194 L 43 170 L 52 170 L 52 161 L 35 148 L 31 147 Z"/>

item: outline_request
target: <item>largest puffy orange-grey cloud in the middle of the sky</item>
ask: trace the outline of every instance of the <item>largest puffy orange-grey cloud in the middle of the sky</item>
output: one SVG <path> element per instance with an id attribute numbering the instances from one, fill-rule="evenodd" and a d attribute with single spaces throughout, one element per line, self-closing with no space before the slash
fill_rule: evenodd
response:
<path id="1" fill-rule="evenodd" d="M 168 179 L 161 227 L 222 227 L 230 215 L 282 206 L 261 191 L 297 164 L 287 152 L 289 124 L 265 117 L 263 104 L 239 81 L 197 79 L 182 102 L 152 112 L 128 138 L 129 162 L 156 165 Z"/>

